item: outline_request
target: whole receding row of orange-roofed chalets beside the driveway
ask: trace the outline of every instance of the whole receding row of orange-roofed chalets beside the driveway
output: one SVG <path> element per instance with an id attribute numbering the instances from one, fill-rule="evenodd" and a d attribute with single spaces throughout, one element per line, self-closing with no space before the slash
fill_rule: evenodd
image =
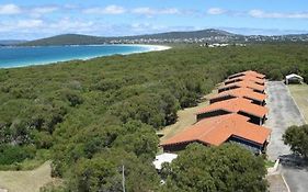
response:
<path id="1" fill-rule="evenodd" d="M 229 76 L 210 104 L 196 113 L 197 122 L 160 146 L 173 153 L 192 143 L 219 146 L 235 142 L 255 154 L 265 153 L 271 129 L 263 126 L 269 112 L 264 91 L 262 74 L 249 70 Z"/>

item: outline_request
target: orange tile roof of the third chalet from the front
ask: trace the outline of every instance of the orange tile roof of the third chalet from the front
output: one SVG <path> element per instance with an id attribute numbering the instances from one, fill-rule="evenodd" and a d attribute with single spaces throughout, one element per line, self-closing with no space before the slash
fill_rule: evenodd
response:
<path id="1" fill-rule="evenodd" d="M 227 95 L 231 95 L 235 98 L 246 98 L 246 99 L 251 99 L 251 100 L 261 101 L 261 102 L 267 98 L 267 94 L 254 92 L 252 89 L 238 88 L 238 89 L 231 89 L 231 90 L 220 92 L 220 93 L 212 97 L 209 100 L 225 98 Z"/>

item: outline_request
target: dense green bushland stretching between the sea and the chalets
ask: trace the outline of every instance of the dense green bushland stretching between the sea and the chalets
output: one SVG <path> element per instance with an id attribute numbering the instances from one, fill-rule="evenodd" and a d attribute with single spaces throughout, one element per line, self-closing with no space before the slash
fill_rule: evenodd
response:
<path id="1" fill-rule="evenodd" d="M 0 157 L 12 155 L 0 163 L 47 149 L 53 174 L 66 178 L 72 191 L 116 190 L 122 165 L 129 191 L 155 190 L 155 131 L 174 123 L 179 109 L 195 105 L 228 75 L 247 69 L 308 80 L 308 45 L 187 46 L 1 69 Z"/>

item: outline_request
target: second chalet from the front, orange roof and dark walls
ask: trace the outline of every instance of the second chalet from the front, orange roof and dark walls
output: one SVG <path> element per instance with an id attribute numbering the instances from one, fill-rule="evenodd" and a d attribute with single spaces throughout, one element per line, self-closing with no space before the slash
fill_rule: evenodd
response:
<path id="1" fill-rule="evenodd" d="M 253 104 L 251 100 L 235 98 L 205 106 L 196 113 L 196 118 L 201 121 L 214 116 L 238 113 L 249 117 L 249 122 L 262 125 L 266 120 L 267 112 L 267 108 Z"/>

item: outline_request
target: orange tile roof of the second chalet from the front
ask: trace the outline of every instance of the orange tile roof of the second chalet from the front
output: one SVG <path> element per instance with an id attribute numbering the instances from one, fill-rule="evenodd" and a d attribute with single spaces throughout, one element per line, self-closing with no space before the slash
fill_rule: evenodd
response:
<path id="1" fill-rule="evenodd" d="M 230 113 L 244 112 L 261 118 L 265 116 L 269 112 L 267 108 L 253 104 L 248 99 L 235 98 L 235 99 L 213 103 L 199 110 L 196 114 L 203 114 L 203 113 L 208 113 L 219 110 L 224 110 Z"/>

